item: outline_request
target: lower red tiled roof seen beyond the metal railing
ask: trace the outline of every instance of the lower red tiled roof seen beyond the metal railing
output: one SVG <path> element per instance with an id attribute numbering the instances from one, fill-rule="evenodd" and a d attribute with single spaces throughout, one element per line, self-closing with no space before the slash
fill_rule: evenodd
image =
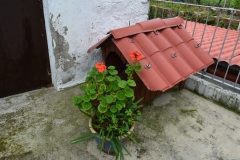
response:
<path id="1" fill-rule="evenodd" d="M 187 26 L 186 26 L 186 30 L 190 34 L 192 34 L 192 32 L 194 30 L 194 26 L 195 26 L 195 22 L 188 21 Z M 204 31 L 204 26 L 205 26 L 205 24 L 196 23 L 196 28 L 195 28 L 195 32 L 194 32 L 194 39 L 198 42 L 201 42 L 203 31 Z M 203 37 L 201 47 L 207 53 L 209 52 L 209 49 L 210 49 L 210 46 L 211 46 L 211 43 L 212 43 L 212 38 L 213 38 L 213 35 L 214 35 L 215 28 L 216 28 L 216 26 L 206 25 L 206 29 L 205 29 L 205 33 L 204 33 L 204 37 Z M 223 47 L 223 50 L 222 50 L 222 54 L 220 56 L 221 49 L 222 49 L 222 46 L 223 46 L 223 43 L 224 43 L 224 38 L 225 38 L 225 35 L 227 33 L 227 29 L 217 27 L 216 34 L 215 34 L 214 41 L 213 41 L 211 50 L 209 52 L 209 55 L 212 58 L 215 58 L 216 60 L 220 56 L 220 59 L 219 59 L 220 62 L 224 61 L 224 62 L 230 63 L 230 59 L 231 59 L 231 56 L 233 54 L 233 58 L 232 58 L 230 66 L 237 65 L 237 66 L 240 67 L 240 39 L 238 41 L 236 50 L 233 53 L 235 44 L 236 44 L 238 36 L 239 36 L 239 32 L 240 31 L 236 31 L 236 30 L 229 30 L 228 31 L 228 35 L 227 35 L 226 40 L 225 40 L 225 44 L 224 44 L 224 47 Z"/>

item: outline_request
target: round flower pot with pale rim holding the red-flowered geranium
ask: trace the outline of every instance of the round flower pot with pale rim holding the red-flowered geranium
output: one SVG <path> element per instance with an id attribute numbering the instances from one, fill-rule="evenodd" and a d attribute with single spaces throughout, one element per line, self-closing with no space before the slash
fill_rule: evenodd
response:
<path id="1" fill-rule="evenodd" d="M 134 126 L 135 124 L 133 123 L 132 127 L 130 128 L 130 131 L 128 132 L 128 134 L 130 134 L 131 132 L 133 132 L 134 130 Z M 89 129 L 92 133 L 97 133 L 93 127 L 92 127 L 92 118 L 89 119 Z M 127 137 L 126 136 L 123 136 L 123 137 L 119 137 L 119 139 L 121 139 L 121 141 L 123 142 L 123 144 L 126 143 L 127 141 Z M 100 146 L 101 143 L 102 143 L 102 139 L 99 138 L 98 136 L 95 136 L 94 137 L 94 140 L 96 141 L 97 145 Z M 114 148 L 112 147 L 111 145 L 111 141 L 110 139 L 106 139 L 106 141 L 104 142 L 104 145 L 103 145 L 103 149 L 102 149 L 103 152 L 107 153 L 107 154 L 112 154 L 114 155 L 115 154 L 115 151 L 114 151 Z"/>

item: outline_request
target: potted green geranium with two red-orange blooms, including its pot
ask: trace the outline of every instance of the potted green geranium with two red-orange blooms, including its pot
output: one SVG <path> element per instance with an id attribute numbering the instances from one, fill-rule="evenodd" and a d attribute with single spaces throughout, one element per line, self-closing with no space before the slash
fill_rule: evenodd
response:
<path id="1" fill-rule="evenodd" d="M 124 146 L 126 139 L 136 140 L 133 137 L 134 122 L 139 121 L 141 115 L 138 105 L 140 100 L 134 99 L 133 72 L 140 72 L 142 65 L 138 62 L 142 55 L 140 52 L 130 52 L 134 63 L 127 64 L 125 73 L 127 80 L 118 76 L 114 66 L 106 67 L 103 62 L 98 62 L 87 73 L 84 84 L 80 89 L 84 91 L 82 96 L 74 96 L 72 101 L 79 110 L 90 117 L 89 128 L 92 133 L 80 136 L 72 141 L 73 144 L 95 138 L 100 150 L 114 153 L 116 159 L 124 159 L 123 150 L 129 155 Z M 147 125 L 147 124 L 146 124 Z"/>

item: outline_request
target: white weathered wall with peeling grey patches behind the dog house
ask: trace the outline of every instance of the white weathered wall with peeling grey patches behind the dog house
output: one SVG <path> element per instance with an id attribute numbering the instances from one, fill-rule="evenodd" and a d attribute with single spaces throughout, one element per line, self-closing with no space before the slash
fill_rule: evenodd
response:
<path id="1" fill-rule="evenodd" d="M 87 54 L 111 29 L 147 20 L 147 0 L 43 0 L 52 80 L 58 90 L 85 80 L 101 60 Z"/>

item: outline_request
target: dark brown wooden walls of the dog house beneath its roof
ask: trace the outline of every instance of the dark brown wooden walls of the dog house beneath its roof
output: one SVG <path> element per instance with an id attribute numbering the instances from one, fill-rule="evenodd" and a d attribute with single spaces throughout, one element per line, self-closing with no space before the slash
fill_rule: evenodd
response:
<path id="1" fill-rule="evenodd" d="M 120 68 L 121 70 L 120 72 L 125 71 L 125 69 L 122 70 L 122 66 L 126 66 L 127 60 L 125 59 L 121 51 L 113 42 L 103 45 L 101 49 L 102 49 L 102 59 L 107 66 L 113 65 L 118 69 Z M 123 75 L 124 73 L 119 73 L 121 75 L 120 77 L 123 79 L 124 79 L 124 75 Z M 135 99 L 138 100 L 140 98 L 143 98 L 143 100 L 141 101 L 141 104 L 148 102 L 161 94 L 161 91 L 150 91 L 149 89 L 147 89 L 147 87 L 144 85 L 144 83 L 136 73 L 133 75 L 133 79 L 137 84 L 137 86 L 134 87 Z"/>

